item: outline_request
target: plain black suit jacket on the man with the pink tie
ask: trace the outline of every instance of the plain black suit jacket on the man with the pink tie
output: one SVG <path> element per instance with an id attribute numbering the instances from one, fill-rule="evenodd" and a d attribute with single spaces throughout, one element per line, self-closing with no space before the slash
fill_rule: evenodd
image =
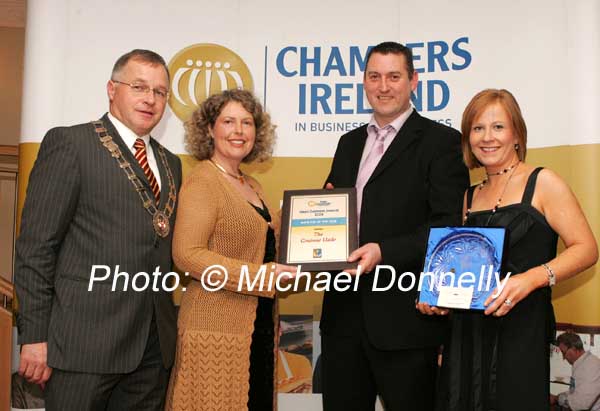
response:
<path id="1" fill-rule="evenodd" d="M 354 187 L 366 139 L 366 125 L 341 137 L 327 182 L 337 188 Z M 380 245 L 380 264 L 394 267 L 396 283 L 389 291 L 373 292 L 371 273 L 361 277 L 358 292 L 326 292 L 321 317 L 324 334 L 355 333 L 362 316 L 369 340 L 378 349 L 441 342 L 445 318 L 417 312 L 417 286 L 403 292 L 397 281 L 409 271 L 418 284 L 428 227 L 460 224 L 468 185 L 460 133 L 413 111 L 365 185 L 360 215 L 360 245 Z M 390 280 L 389 271 L 381 271 L 377 285 L 384 287 Z M 407 278 L 403 286 L 408 284 Z"/>

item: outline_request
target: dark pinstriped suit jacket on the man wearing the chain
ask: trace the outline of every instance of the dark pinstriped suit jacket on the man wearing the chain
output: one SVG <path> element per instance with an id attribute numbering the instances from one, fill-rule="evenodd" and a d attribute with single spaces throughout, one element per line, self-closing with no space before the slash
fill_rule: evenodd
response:
<path id="1" fill-rule="evenodd" d="M 102 121 L 152 197 L 144 172 L 108 116 Z M 158 155 L 160 144 L 151 139 L 151 145 L 163 209 L 168 178 Z M 181 161 L 165 152 L 179 190 Z M 170 223 L 173 227 L 175 213 Z M 164 239 L 156 236 L 152 217 L 92 124 L 48 131 L 29 178 L 16 244 L 19 344 L 47 341 L 50 367 L 127 373 L 142 359 L 154 315 L 163 362 L 170 367 L 176 338 L 171 293 L 152 291 L 152 283 L 136 292 L 131 280 L 138 272 L 151 275 L 156 267 L 163 274 L 172 271 L 171 239 L 172 230 Z M 88 291 L 93 265 L 128 273 L 127 291 L 122 277 L 112 291 L 112 274 Z"/>

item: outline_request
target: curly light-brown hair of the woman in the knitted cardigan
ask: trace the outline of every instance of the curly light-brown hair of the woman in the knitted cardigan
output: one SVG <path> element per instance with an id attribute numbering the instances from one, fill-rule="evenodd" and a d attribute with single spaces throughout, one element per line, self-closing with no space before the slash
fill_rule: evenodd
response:
<path id="1" fill-rule="evenodd" d="M 215 144 L 209 127 L 215 126 L 215 121 L 223 108 L 232 101 L 240 103 L 252 115 L 256 127 L 254 146 L 242 162 L 268 160 L 275 145 L 275 126 L 271 124 L 271 117 L 263 110 L 257 98 L 250 91 L 240 89 L 225 90 L 222 93 L 214 94 L 194 111 L 192 117 L 185 122 L 186 150 L 198 160 L 207 160 L 212 157 Z"/>

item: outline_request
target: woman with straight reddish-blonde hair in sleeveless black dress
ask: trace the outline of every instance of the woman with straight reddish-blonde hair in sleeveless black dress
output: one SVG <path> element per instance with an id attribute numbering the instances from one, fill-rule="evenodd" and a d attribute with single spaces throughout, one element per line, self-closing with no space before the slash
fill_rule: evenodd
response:
<path id="1" fill-rule="evenodd" d="M 555 333 L 551 287 L 596 262 L 596 241 L 562 178 L 525 163 L 527 128 L 510 92 L 488 89 L 473 97 L 462 134 L 465 163 L 487 174 L 465 193 L 464 224 L 508 229 L 505 268 L 512 275 L 496 299 L 488 298 L 485 312 L 451 313 L 438 409 L 547 411 Z M 556 256 L 558 237 L 565 250 Z"/>

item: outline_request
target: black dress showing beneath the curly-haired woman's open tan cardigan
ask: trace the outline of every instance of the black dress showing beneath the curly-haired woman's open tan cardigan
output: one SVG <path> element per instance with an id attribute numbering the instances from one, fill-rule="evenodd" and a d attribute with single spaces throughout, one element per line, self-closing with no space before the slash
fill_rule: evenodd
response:
<path id="1" fill-rule="evenodd" d="M 271 215 L 265 203 L 262 208 L 252 204 L 258 214 L 271 222 Z M 275 232 L 269 225 L 265 244 L 264 263 L 275 261 Z M 275 323 L 273 321 L 272 298 L 258 297 L 254 332 L 250 345 L 250 391 L 248 393 L 249 411 L 267 411 L 273 409 L 273 378 Z"/>

